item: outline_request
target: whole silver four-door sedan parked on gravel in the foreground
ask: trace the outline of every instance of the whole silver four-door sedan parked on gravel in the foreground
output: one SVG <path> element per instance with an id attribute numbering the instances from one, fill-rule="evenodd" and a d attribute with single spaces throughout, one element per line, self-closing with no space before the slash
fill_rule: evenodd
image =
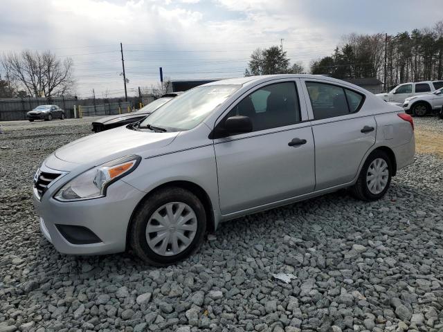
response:
<path id="1" fill-rule="evenodd" d="M 412 118 L 358 86 L 242 77 L 57 149 L 35 174 L 34 202 L 60 252 L 131 248 L 171 264 L 222 221 L 346 187 L 380 199 L 414 153 Z"/>

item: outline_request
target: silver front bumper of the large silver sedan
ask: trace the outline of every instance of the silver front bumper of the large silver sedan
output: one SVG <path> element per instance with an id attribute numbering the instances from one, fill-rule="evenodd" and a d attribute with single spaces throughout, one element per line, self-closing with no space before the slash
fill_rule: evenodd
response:
<path id="1" fill-rule="evenodd" d="M 55 192 L 68 178 L 71 176 L 61 176 L 53 181 L 41 199 L 33 194 L 34 206 L 40 217 L 40 230 L 44 237 L 64 254 L 98 255 L 125 251 L 129 220 L 145 193 L 120 180 L 110 185 L 107 196 L 100 199 L 76 202 L 60 202 L 53 199 Z M 100 241 L 73 244 L 62 235 L 60 225 L 87 228 L 96 234 Z"/>

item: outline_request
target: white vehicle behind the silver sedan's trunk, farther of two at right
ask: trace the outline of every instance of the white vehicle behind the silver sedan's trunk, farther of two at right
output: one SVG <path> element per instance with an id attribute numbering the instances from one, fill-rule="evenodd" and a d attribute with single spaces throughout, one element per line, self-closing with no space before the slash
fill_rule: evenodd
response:
<path id="1" fill-rule="evenodd" d="M 378 93 L 377 97 L 385 100 L 386 102 L 392 102 L 398 106 L 403 106 L 406 98 L 433 92 L 442 87 L 443 81 L 409 82 L 395 86 L 395 88 L 388 93 Z"/>

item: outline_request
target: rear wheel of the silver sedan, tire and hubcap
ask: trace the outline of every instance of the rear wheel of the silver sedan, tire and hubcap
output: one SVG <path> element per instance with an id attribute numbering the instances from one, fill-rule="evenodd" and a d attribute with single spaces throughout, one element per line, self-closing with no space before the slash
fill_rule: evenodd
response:
<path id="1" fill-rule="evenodd" d="M 381 160 L 383 160 L 383 162 L 381 162 Z M 372 168 L 376 166 L 377 163 L 379 163 L 379 165 L 381 166 L 380 168 L 383 172 L 381 174 L 384 174 L 385 170 L 388 171 L 388 174 L 383 176 L 378 172 L 379 177 L 376 178 L 374 181 L 375 187 L 371 187 L 368 177 L 370 176 L 370 174 L 372 174 L 372 172 L 377 172 L 376 168 Z M 363 167 L 359 174 L 359 178 L 357 179 L 355 185 L 353 185 L 351 188 L 352 194 L 354 194 L 357 199 L 361 199 L 362 201 L 377 201 L 377 199 L 381 199 L 381 197 L 383 197 L 388 191 L 391 178 L 392 162 L 388 154 L 381 150 L 372 151 L 372 153 L 368 156 L 365 163 L 363 164 Z M 377 188 L 377 179 L 380 180 L 381 185 L 384 185 L 384 187 L 380 186 Z"/>

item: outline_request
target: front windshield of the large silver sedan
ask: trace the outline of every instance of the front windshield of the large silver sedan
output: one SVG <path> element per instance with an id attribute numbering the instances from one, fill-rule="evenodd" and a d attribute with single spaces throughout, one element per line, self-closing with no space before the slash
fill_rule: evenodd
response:
<path id="1" fill-rule="evenodd" d="M 232 95 L 239 85 L 197 86 L 179 95 L 141 122 L 140 127 L 160 127 L 168 131 L 189 130 Z"/>

